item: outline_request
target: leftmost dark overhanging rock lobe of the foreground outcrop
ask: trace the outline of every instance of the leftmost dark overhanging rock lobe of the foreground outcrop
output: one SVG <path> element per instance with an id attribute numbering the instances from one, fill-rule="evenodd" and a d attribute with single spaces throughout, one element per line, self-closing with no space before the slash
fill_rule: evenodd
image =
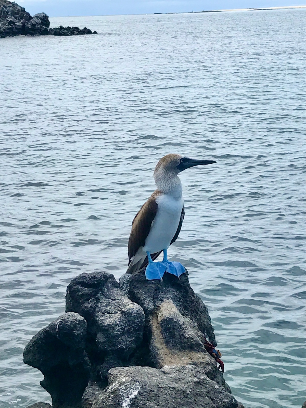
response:
<path id="1" fill-rule="evenodd" d="M 40 384 L 54 408 L 80 406 L 91 367 L 84 351 L 86 330 L 83 317 L 66 313 L 40 330 L 24 349 L 24 363 L 42 372 Z"/>

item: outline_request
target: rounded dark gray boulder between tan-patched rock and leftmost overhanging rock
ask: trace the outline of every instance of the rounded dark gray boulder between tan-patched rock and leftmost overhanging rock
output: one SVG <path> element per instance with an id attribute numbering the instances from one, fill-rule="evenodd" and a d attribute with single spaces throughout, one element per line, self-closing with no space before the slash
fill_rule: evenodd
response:
<path id="1" fill-rule="evenodd" d="M 144 311 L 131 302 L 113 275 L 82 273 L 67 287 L 66 312 L 76 312 L 88 324 L 86 352 L 94 361 L 92 379 L 107 378 L 111 367 L 129 365 L 142 342 Z"/>

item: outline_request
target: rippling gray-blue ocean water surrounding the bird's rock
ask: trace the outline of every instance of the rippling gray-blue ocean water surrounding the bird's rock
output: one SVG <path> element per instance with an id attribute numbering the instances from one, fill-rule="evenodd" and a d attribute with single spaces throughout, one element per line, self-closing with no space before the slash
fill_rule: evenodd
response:
<path id="1" fill-rule="evenodd" d="M 208 306 L 246 408 L 306 399 L 306 10 L 52 18 L 98 35 L 0 40 L 0 406 L 50 401 L 25 366 L 82 272 L 127 266 L 167 153 L 169 249 Z"/>

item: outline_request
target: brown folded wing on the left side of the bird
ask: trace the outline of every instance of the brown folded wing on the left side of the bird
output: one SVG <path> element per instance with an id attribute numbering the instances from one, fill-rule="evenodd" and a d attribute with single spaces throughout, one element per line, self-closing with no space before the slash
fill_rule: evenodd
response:
<path id="1" fill-rule="evenodd" d="M 136 255 L 138 249 L 144 246 L 155 218 L 157 207 L 155 197 L 151 196 L 136 214 L 132 222 L 132 230 L 129 237 L 129 263 L 131 262 L 131 257 Z"/>

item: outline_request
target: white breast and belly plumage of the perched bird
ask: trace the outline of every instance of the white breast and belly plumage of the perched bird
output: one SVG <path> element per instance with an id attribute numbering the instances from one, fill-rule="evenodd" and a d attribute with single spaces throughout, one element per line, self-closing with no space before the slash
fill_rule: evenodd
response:
<path id="1" fill-rule="evenodd" d="M 158 196 L 156 202 L 158 205 L 157 213 L 143 247 L 144 251 L 150 253 L 169 248 L 177 231 L 184 204 L 182 197 L 176 200 L 171 195 L 166 194 Z"/>

